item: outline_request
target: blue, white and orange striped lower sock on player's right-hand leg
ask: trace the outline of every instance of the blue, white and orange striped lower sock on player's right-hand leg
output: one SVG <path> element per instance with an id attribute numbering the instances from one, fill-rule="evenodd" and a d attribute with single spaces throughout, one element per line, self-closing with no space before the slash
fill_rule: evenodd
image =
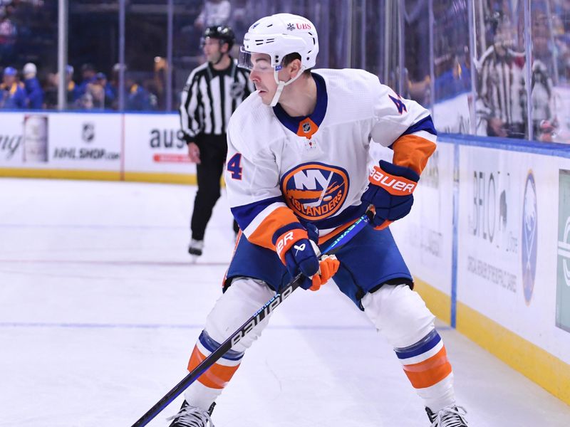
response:
<path id="1" fill-rule="evenodd" d="M 394 350 L 425 406 L 438 411 L 455 403 L 451 364 L 435 329 L 415 344 Z"/>

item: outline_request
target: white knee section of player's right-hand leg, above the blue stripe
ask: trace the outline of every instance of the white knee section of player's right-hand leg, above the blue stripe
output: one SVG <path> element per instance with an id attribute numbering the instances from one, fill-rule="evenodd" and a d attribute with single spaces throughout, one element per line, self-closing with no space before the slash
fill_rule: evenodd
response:
<path id="1" fill-rule="evenodd" d="M 362 299 L 364 312 L 393 347 L 408 347 L 434 328 L 435 316 L 408 285 L 384 285 Z"/>

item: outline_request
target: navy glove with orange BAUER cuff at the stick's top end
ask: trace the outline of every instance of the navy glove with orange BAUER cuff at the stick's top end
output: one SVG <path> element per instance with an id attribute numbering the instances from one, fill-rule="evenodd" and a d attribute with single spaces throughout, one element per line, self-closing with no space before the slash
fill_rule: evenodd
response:
<path id="1" fill-rule="evenodd" d="M 381 230 L 409 214 L 419 179 L 420 175 L 408 167 L 380 160 L 380 166 L 375 166 L 368 175 L 370 185 L 361 197 L 375 208 L 371 221 L 374 228 Z"/>

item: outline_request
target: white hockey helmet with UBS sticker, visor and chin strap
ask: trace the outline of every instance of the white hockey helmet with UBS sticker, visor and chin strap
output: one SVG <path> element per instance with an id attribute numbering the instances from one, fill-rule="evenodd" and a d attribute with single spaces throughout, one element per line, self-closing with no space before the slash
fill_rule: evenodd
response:
<path id="1" fill-rule="evenodd" d="M 278 88 L 271 106 L 276 105 L 284 86 L 293 83 L 304 70 L 316 65 L 318 37 L 316 28 L 309 19 L 293 14 L 276 14 L 259 19 L 249 27 L 244 36 L 238 64 L 242 68 L 252 69 L 252 53 L 266 53 L 274 68 Z M 301 56 L 301 71 L 288 82 L 279 80 L 282 60 L 289 53 Z"/>

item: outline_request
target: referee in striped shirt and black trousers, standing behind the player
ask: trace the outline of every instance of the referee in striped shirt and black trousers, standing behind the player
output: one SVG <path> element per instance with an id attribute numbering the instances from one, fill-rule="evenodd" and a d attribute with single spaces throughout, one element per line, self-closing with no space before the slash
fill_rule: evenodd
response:
<path id="1" fill-rule="evenodd" d="M 219 199 L 219 182 L 227 154 L 229 117 L 254 91 L 249 72 L 237 68 L 229 56 L 235 36 L 228 26 L 210 26 L 204 31 L 202 50 L 207 62 L 192 70 L 182 91 L 180 122 L 188 156 L 196 163 L 198 191 L 190 229 L 188 253 L 202 255 L 204 232 Z M 234 221 L 234 232 L 239 228 Z"/>

